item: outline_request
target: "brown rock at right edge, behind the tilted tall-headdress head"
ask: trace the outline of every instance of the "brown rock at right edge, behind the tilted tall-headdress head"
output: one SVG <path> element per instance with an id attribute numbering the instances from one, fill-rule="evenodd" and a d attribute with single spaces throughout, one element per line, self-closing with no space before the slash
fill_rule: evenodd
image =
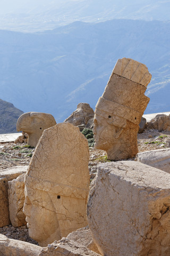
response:
<path id="1" fill-rule="evenodd" d="M 152 118 L 147 123 L 148 129 L 155 129 L 158 131 L 170 131 L 170 115 L 159 114 Z"/>

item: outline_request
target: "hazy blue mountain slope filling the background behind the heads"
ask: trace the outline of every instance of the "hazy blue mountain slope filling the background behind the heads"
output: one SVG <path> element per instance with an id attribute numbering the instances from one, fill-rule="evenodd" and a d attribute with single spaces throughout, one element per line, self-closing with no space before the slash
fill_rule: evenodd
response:
<path id="1" fill-rule="evenodd" d="M 1 98 L 63 122 L 79 102 L 95 108 L 117 59 L 126 57 L 152 74 L 145 114 L 169 111 L 169 41 L 168 21 L 79 21 L 37 34 L 0 30 Z"/>

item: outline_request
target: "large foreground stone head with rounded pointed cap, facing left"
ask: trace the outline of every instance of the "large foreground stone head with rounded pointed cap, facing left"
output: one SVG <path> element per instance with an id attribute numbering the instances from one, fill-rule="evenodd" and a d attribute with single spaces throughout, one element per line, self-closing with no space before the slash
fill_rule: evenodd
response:
<path id="1" fill-rule="evenodd" d="M 25 175 L 29 235 L 46 246 L 87 225 L 89 147 L 79 128 L 61 123 L 44 131 Z"/>

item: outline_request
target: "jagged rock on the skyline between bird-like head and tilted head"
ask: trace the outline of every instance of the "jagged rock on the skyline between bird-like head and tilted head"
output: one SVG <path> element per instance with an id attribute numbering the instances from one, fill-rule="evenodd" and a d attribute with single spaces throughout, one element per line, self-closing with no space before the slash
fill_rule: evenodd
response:
<path id="1" fill-rule="evenodd" d="M 65 119 L 73 125 L 84 125 L 86 127 L 89 119 L 94 118 L 94 110 L 88 103 L 79 103 L 77 109 Z"/>

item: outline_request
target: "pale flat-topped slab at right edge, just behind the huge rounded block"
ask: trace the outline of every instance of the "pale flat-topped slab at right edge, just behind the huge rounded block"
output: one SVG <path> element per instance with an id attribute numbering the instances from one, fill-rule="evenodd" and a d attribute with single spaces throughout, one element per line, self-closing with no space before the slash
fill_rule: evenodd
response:
<path id="1" fill-rule="evenodd" d="M 170 148 L 140 152 L 135 161 L 170 173 Z"/>

